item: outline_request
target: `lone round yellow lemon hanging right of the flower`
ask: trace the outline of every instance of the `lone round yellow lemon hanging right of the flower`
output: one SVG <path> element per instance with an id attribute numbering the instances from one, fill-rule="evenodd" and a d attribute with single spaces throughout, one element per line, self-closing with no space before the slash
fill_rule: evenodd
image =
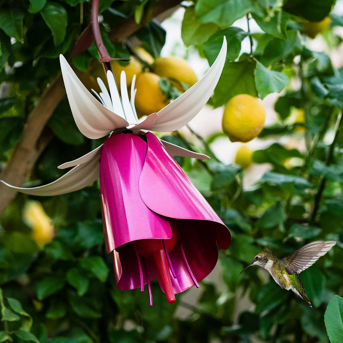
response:
<path id="1" fill-rule="evenodd" d="M 249 142 L 262 131 L 265 108 L 248 94 L 235 95 L 225 105 L 222 127 L 232 142 Z"/>

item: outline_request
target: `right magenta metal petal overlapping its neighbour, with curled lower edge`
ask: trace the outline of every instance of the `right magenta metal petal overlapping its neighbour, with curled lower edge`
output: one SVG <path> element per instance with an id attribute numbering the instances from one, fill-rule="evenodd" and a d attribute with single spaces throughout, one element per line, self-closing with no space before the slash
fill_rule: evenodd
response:
<path id="1" fill-rule="evenodd" d="M 165 217 L 208 221 L 208 229 L 218 233 L 218 244 L 227 249 L 231 241 L 228 228 L 158 138 L 151 132 L 145 137 L 148 150 L 139 178 L 145 205 Z"/>

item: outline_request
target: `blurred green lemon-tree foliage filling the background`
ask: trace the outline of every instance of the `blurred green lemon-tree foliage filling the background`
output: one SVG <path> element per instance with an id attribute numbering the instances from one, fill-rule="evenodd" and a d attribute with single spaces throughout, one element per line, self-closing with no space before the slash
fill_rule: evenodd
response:
<path id="1" fill-rule="evenodd" d="M 0 221 L 0 342 L 248 343 L 258 338 L 326 343 L 328 335 L 332 343 L 343 341 L 343 69 L 335 69 L 324 52 L 308 48 L 299 24 L 304 19 L 322 20 L 334 2 L 198 0 L 186 8 L 181 28 L 186 46 L 195 45 L 211 65 L 224 35 L 228 42 L 211 105 L 221 106 L 236 94 L 263 98 L 285 89 L 275 104 L 277 124 L 260 134 L 280 143 L 253 154 L 255 163 L 269 163 L 271 170 L 249 190 L 243 188 L 244 172 L 224 165 L 209 150 L 222 133 L 195 145 L 179 133 L 163 137 L 212 157 L 209 163 L 183 157 L 177 161 L 232 232 L 231 247 L 220 251 L 225 287 L 202 282 L 196 306 L 180 301 L 180 296 L 169 305 L 153 283 L 150 308 L 147 293 L 116 288 L 103 243 L 97 182 L 71 194 L 35 198 L 56 230 L 44 248 L 36 245 L 22 220 L 25 203 L 34 197 L 18 194 Z M 5 94 L 0 99 L 1 168 L 20 140 L 30 111 L 58 74 L 59 54 L 68 56 L 89 22 L 90 5 L 82 0 L 0 3 L 0 81 Z M 125 44 L 112 43 L 108 32 L 131 16 L 146 23 L 134 35 L 153 56 L 159 55 L 165 32 L 156 22 L 149 23 L 153 6 L 154 1 L 100 1 L 101 30 L 111 57 L 129 56 Z M 263 32 L 251 34 L 231 26 L 245 15 L 252 16 Z M 331 25 L 323 34 L 328 51 L 341 44 L 332 27 L 343 26 L 343 17 L 333 15 Z M 247 36 L 254 44 L 250 54 L 241 54 L 241 41 Z M 74 65 L 87 71 L 94 56 L 93 44 L 73 59 Z M 294 108 L 304 110 L 304 122 L 292 121 Z M 59 164 L 99 145 L 78 131 L 67 100 L 47 126 L 55 138 L 27 178 L 35 184 L 60 177 Z M 298 143 L 281 144 L 287 139 L 305 139 L 305 149 L 299 151 Z M 259 250 L 283 257 L 317 239 L 338 243 L 300 275 L 314 308 L 282 290 L 257 267 L 239 275 Z M 247 301 L 249 305 L 242 305 Z M 190 315 L 178 319 L 175 311 L 182 308 Z"/>

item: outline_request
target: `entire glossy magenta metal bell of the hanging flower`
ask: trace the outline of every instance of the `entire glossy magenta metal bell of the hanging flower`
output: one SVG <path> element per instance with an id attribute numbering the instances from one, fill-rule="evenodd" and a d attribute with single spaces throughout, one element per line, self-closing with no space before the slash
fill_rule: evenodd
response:
<path id="1" fill-rule="evenodd" d="M 118 133 L 105 141 L 100 190 L 106 245 L 113 251 L 119 289 L 142 287 L 157 276 L 156 263 L 138 256 L 132 242 L 164 239 L 165 247 L 172 237 L 171 218 L 176 218 L 178 236 L 166 258 L 175 293 L 212 271 L 217 242 L 224 249 L 230 244 L 227 227 L 152 133 Z"/>

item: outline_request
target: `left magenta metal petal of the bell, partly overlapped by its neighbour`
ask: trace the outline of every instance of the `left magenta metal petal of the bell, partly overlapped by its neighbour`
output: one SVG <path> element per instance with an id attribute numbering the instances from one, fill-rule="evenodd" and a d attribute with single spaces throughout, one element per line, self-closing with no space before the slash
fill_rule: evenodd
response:
<path id="1" fill-rule="evenodd" d="M 100 191 L 107 251 L 128 242 L 172 237 L 169 221 L 146 207 L 140 197 L 138 180 L 147 145 L 133 133 L 109 137 L 100 155 Z"/>

